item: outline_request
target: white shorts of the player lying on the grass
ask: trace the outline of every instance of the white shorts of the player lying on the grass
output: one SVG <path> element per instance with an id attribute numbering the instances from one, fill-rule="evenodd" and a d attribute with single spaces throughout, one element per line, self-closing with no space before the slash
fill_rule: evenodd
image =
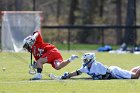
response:
<path id="1" fill-rule="evenodd" d="M 132 72 L 117 66 L 110 66 L 111 75 L 117 79 L 131 79 Z"/>

